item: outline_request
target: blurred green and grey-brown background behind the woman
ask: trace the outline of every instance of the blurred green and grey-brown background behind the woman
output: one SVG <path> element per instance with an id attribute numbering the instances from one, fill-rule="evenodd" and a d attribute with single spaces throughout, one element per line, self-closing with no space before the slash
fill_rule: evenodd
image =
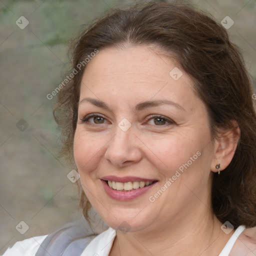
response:
<path id="1" fill-rule="evenodd" d="M 62 81 L 67 43 L 81 25 L 111 6 L 132 2 L 0 0 L 0 254 L 79 214 L 76 185 L 66 176 L 71 168 L 58 158 L 55 98 L 46 95 Z M 233 19 L 228 33 L 256 77 L 256 1 L 191 2 L 218 22 L 226 15 Z M 24 29 L 15 23 L 20 16 L 29 21 Z M 29 226 L 24 234 L 15 228 L 21 220 Z"/>

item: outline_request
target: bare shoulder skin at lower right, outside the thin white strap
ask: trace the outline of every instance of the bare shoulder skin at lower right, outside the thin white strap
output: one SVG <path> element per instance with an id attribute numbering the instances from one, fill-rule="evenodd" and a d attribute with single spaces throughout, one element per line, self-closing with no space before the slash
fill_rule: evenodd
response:
<path id="1" fill-rule="evenodd" d="M 246 228 L 236 239 L 230 256 L 255 256 L 256 255 L 256 226 Z"/>

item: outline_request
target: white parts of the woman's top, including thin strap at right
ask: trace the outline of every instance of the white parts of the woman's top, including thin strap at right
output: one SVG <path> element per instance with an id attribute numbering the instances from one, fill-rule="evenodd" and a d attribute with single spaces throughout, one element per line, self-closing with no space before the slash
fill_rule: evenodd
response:
<path id="1" fill-rule="evenodd" d="M 244 229 L 244 225 L 240 225 L 236 228 L 218 256 L 228 256 L 237 237 Z M 18 241 L 11 248 L 8 248 L 2 256 L 34 256 L 46 236 L 47 235 L 34 236 L 23 241 Z M 116 231 L 109 227 L 107 230 L 91 240 L 91 242 L 83 250 L 81 256 L 97 254 L 99 256 L 108 256 L 115 236 Z"/>

